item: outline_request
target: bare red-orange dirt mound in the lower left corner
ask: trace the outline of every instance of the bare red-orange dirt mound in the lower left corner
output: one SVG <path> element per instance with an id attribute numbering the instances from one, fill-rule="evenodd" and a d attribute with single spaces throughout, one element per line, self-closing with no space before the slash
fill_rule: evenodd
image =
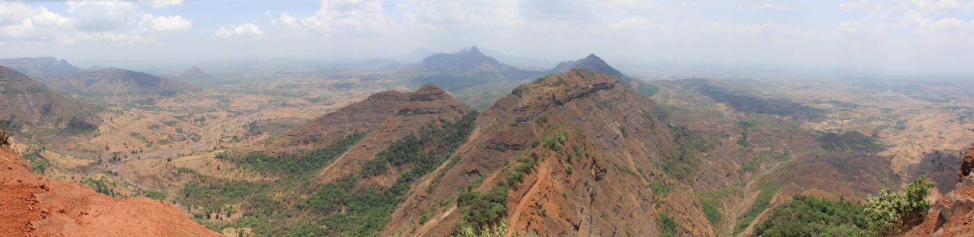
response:
<path id="1" fill-rule="evenodd" d="M 219 236 L 167 202 L 49 180 L 0 147 L 0 236 Z"/>

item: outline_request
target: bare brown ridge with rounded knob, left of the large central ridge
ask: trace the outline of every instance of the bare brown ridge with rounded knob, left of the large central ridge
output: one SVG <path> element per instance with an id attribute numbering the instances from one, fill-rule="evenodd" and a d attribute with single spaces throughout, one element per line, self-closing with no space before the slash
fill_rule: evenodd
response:
<path id="1" fill-rule="evenodd" d="M 401 135 L 436 117 L 457 118 L 458 115 L 451 113 L 460 112 L 462 116 L 468 110 L 466 105 L 460 104 L 434 85 L 425 85 L 412 93 L 383 91 L 285 132 L 268 144 L 266 150 L 307 152 L 330 146 L 356 131 L 367 132 L 382 127 L 384 129 L 380 131 L 385 132 L 379 132 L 371 137 L 378 139 L 389 135 L 387 133 L 393 132 L 392 130 L 396 128 L 408 127 L 409 129 L 395 131 L 396 134 Z M 386 139 L 394 138 L 396 137 Z M 376 142 L 388 144 L 391 140 Z"/>

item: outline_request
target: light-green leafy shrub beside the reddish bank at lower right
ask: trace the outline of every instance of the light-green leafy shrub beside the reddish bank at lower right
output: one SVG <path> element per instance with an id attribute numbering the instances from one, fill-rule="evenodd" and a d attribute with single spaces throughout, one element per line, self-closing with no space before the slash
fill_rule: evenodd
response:
<path id="1" fill-rule="evenodd" d="M 893 235 L 917 225 L 930 208 L 930 201 L 923 200 L 930 194 L 930 187 L 933 183 L 926 177 L 919 177 L 902 193 L 883 188 L 878 195 L 866 197 L 869 206 L 865 212 L 870 229 L 881 235 Z"/>

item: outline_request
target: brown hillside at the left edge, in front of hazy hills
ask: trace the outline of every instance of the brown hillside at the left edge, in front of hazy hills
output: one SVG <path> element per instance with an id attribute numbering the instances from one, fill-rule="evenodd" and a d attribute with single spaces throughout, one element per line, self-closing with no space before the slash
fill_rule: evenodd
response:
<path id="1" fill-rule="evenodd" d="M 64 98 L 13 68 L 0 66 L 0 119 L 17 123 L 74 122 L 94 120 L 94 106 Z M 70 125 L 70 124 L 69 124 Z"/>

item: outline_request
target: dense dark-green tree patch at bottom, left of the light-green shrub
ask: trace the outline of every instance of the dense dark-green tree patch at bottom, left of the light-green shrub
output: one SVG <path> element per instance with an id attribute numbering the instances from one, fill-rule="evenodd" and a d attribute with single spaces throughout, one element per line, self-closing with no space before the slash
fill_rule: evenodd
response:
<path id="1" fill-rule="evenodd" d="M 865 206 L 798 195 L 755 225 L 755 236 L 876 236 L 866 223 Z"/>

